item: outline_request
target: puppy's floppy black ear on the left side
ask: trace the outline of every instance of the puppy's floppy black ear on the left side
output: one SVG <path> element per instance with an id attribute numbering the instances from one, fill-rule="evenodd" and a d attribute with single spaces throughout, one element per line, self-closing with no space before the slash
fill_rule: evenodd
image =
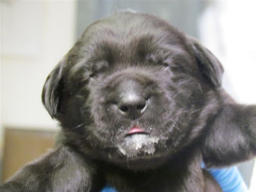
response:
<path id="1" fill-rule="evenodd" d="M 54 70 L 52 70 L 45 81 L 42 92 L 42 102 L 52 118 L 58 118 L 58 108 L 63 89 L 62 77 L 64 64 L 65 59 L 61 60 Z"/>

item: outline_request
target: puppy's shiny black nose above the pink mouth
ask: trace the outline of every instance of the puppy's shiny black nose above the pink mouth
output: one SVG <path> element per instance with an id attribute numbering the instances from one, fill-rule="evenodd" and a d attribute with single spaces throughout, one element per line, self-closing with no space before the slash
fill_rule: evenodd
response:
<path id="1" fill-rule="evenodd" d="M 147 108 L 147 100 L 140 94 L 127 93 L 118 102 L 118 109 L 125 118 L 140 118 Z"/>

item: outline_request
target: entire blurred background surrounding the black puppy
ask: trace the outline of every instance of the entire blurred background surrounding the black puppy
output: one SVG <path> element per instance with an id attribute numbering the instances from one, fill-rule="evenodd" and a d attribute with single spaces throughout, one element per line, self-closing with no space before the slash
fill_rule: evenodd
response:
<path id="1" fill-rule="evenodd" d="M 228 93 L 255 104 L 255 7 L 253 0 L 1 0 L 0 180 L 52 148 L 59 128 L 41 102 L 44 81 L 86 26 L 118 10 L 158 15 L 199 38 L 223 64 Z M 239 169 L 256 191 L 254 160 Z"/>

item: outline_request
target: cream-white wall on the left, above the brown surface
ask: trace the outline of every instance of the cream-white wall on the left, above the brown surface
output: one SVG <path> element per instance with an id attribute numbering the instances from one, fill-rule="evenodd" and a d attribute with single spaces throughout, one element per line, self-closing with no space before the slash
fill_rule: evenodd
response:
<path id="1" fill-rule="evenodd" d="M 2 127 L 56 129 L 41 92 L 74 44 L 75 5 L 72 0 L 1 3 Z"/>

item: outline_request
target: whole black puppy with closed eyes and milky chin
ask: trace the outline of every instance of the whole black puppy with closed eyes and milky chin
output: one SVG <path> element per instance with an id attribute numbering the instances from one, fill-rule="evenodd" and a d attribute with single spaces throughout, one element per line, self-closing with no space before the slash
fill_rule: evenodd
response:
<path id="1" fill-rule="evenodd" d="M 221 88 L 205 47 L 157 17 L 118 12 L 89 26 L 42 93 L 56 148 L 1 191 L 220 191 L 207 167 L 255 156 L 256 106 Z"/>

